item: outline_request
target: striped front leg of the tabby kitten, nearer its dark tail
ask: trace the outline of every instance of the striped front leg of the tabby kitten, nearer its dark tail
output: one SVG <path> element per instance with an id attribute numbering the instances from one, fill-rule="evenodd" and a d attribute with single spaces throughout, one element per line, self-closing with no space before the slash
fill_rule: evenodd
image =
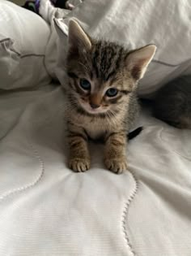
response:
<path id="1" fill-rule="evenodd" d="M 108 170 L 115 173 L 127 170 L 126 141 L 126 132 L 113 132 L 106 138 L 104 163 Z"/>

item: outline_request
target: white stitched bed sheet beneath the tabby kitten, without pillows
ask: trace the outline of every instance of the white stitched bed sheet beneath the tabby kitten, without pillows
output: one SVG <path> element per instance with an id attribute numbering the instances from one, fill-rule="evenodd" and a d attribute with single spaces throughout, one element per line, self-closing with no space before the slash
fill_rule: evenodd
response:
<path id="1" fill-rule="evenodd" d="M 191 131 L 142 111 L 129 171 L 66 167 L 60 87 L 0 97 L 0 255 L 191 255 Z"/>

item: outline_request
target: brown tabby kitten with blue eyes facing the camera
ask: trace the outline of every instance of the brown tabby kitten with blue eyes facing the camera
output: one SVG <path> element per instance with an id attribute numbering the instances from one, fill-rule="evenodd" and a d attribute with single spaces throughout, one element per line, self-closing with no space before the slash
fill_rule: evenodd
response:
<path id="1" fill-rule="evenodd" d="M 138 116 L 138 80 L 155 54 L 149 45 L 134 51 L 91 38 L 70 20 L 66 59 L 66 120 L 70 147 L 69 167 L 87 171 L 91 165 L 88 138 L 104 140 L 105 166 L 121 173 L 127 133 Z"/>

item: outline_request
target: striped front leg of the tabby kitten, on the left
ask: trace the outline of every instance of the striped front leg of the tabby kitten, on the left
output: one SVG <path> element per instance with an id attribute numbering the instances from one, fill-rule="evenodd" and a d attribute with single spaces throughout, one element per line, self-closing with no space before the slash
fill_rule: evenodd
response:
<path id="1" fill-rule="evenodd" d="M 87 137 L 82 133 L 69 132 L 69 167 L 73 171 L 87 171 L 90 168 L 90 154 Z"/>

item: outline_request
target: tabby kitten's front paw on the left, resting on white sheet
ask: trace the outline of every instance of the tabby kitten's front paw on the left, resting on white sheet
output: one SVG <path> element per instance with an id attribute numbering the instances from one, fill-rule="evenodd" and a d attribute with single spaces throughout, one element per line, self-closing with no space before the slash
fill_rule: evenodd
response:
<path id="1" fill-rule="evenodd" d="M 71 158 L 69 167 L 77 172 L 87 171 L 90 168 L 90 160 L 88 158 Z"/>

